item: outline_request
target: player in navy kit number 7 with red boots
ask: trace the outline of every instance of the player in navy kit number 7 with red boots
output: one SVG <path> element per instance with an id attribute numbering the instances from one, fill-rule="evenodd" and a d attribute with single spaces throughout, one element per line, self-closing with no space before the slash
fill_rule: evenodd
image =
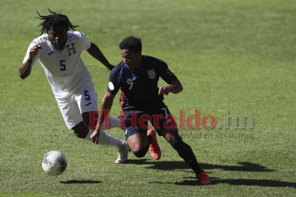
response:
<path id="1" fill-rule="evenodd" d="M 100 120 L 90 136 L 91 140 L 95 144 L 99 142 L 105 114 L 109 113 L 113 99 L 121 89 L 119 102 L 124 111 L 125 137 L 134 155 L 144 157 L 149 149 L 152 157 L 159 160 L 161 151 L 156 139 L 157 132 L 195 172 L 200 184 L 210 184 L 209 177 L 197 163 L 191 147 L 179 136 L 176 123 L 163 102 L 163 95 L 170 92 L 178 94 L 183 90 L 181 82 L 165 62 L 142 55 L 140 38 L 128 36 L 120 42 L 119 48 L 123 61 L 111 70 L 107 93 L 100 106 Z M 159 77 L 169 85 L 158 88 Z M 155 131 L 148 130 L 148 121 Z"/>

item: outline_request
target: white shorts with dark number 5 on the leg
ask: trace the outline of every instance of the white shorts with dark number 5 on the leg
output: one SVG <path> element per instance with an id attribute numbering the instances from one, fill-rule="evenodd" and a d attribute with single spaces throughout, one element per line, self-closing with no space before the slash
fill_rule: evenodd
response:
<path id="1" fill-rule="evenodd" d="M 98 99 L 93 84 L 80 87 L 72 96 L 56 100 L 68 129 L 83 121 L 82 113 L 98 110 Z"/>

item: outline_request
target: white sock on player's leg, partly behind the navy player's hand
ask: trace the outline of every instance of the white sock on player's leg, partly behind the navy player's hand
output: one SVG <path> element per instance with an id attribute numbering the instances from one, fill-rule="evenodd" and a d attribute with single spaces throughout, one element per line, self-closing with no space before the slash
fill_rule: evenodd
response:
<path id="1" fill-rule="evenodd" d="M 93 133 L 93 131 L 95 130 L 90 129 L 84 139 L 90 140 L 90 135 Z M 117 139 L 116 137 L 107 134 L 104 130 L 100 131 L 99 144 L 103 146 L 114 147 L 118 150 L 122 150 L 125 148 L 125 143 L 123 140 Z"/>

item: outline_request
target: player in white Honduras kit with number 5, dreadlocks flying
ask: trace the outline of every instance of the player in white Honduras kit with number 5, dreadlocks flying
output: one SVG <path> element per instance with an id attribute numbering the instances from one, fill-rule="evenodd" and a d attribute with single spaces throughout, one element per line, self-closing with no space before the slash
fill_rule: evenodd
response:
<path id="1" fill-rule="evenodd" d="M 75 31 L 78 26 L 73 26 L 66 15 L 49 12 L 51 14 L 47 16 L 37 12 L 37 18 L 43 20 L 39 25 L 42 27 L 41 35 L 29 45 L 19 75 L 22 79 L 27 78 L 39 59 L 68 129 L 74 130 L 77 137 L 90 140 L 94 128 L 89 128 L 89 111 L 98 111 L 98 101 L 92 77 L 80 58 L 81 51 L 86 50 L 109 70 L 114 66 L 84 33 Z M 70 29 L 74 32 L 70 32 Z M 98 113 L 95 113 L 97 117 Z M 109 117 L 109 123 L 105 129 L 119 127 L 120 120 Z M 96 122 L 92 125 L 96 125 Z M 118 149 L 115 163 L 127 160 L 129 149 L 126 141 L 101 130 L 99 144 Z"/>

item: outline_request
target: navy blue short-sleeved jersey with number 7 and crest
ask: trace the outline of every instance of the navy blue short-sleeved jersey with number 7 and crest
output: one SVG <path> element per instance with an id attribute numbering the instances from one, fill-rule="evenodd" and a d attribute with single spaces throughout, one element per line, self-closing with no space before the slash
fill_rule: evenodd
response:
<path id="1" fill-rule="evenodd" d="M 129 70 L 122 61 L 110 73 L 107 91 L 115 95 L 121 89 L 122 110 L 145 109 L 161 103 L 163 95 L 158 95 L 157 86 L 159 77 L 168 84 L 177 79 L 165 62 L 151 56 L 142 57 L 141 67 Z"/>

